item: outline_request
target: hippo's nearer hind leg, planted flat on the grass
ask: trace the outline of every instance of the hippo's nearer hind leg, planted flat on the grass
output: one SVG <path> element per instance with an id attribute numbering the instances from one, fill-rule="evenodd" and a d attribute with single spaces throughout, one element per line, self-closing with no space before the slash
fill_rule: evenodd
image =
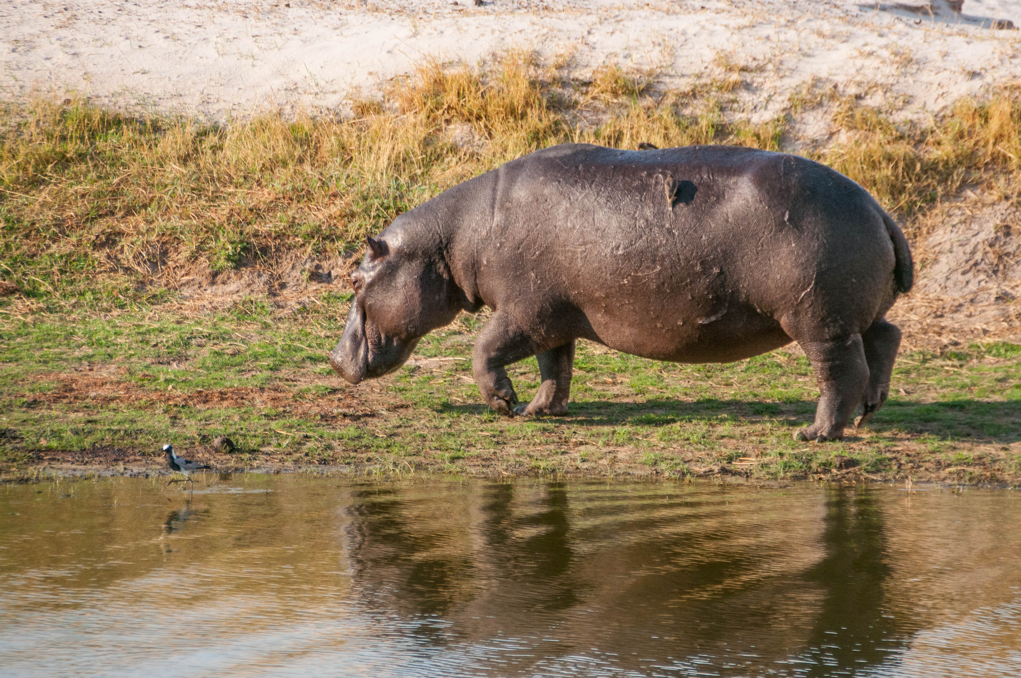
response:
<path id="1" fill-rule="evenodd" d="M 819 405 L 812 426 L 794 434 L 795 440 L 837 440 L 843 436 L 869 383 L 862 335 L 831 341 L 799 341 L 819 383 Z"/>

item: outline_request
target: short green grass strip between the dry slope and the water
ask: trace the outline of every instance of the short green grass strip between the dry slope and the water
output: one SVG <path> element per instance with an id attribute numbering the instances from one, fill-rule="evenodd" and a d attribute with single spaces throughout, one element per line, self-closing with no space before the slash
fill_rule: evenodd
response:
<path id="1" fill-rule="evenodd" d="M 202 318 L 150 311 L 10 323 L 0 344 L 0 463 L 13 473 L 57 451 L 153 454 L 165 441 L 201 449 L 227 434 L 243 466 L 670 475 L 723 467 L 803 478 L 836 472 L 834 458 L 846 457 L 878 476 L 912 465 L 922 475 L 964 466 L 986 479 L 1017 476 L 1021 348 L 1012 344 L 906 354 L 870 431 L 806 444 L 791 437 L 815 410 L 805 357 L 677 365 L 582 342 L 570 415 L 505 419 L 482 404 L 472 381 L 473 335 L 485 319 L 461 317 L 412 357 L 453 359 L 351 387 L 326 361 L 344 308 L 337 301 L 285 318 L 242 304 Z M 530 397 L 535 359 L 509 372 Z"/>

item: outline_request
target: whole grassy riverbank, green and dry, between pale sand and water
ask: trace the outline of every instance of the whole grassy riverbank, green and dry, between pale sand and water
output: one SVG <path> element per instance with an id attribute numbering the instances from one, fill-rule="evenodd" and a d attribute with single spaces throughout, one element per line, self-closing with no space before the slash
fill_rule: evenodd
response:
<path id="1" fill-rule="evenodd" d="M 813 79 L 764 119 L 744 107 L 761 72 L 721 57 L 664 89 L 640 68 L 579 79 L 519 51 L 426 60 L 352 99 L 355 117 L 0 107 L 0 473 L 153 473 L 172 442 L 227 470 L 1016 483 L 1021 90 L 913 122 L 893 90 Z M 503 420 L 471 377 L 484 317 L 380 382 L 330 372 L 367 235 L 574 141 L 796 152 L 875 195 L 918 275 L 889 314 L 905 340 L 874 428 L 792 441 L 818 397 L 796 350 L 679 366 L 584 342 L 570 417 Z M 513 372 L 529 397 L 534 359 Z M 214 453 L 220 435 L 238 450 Z"/>

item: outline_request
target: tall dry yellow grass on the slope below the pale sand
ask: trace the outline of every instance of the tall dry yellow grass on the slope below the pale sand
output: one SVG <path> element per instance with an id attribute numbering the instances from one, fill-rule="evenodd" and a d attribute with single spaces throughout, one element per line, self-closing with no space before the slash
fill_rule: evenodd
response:
<path id="1" fill-rule="evenodd" d="M 485 67 L 427 60 L 379 99 L 356 101 L 350 119 L 270 114 L 207 125 L 81 100 L 8 104 L 0 110 L 0 278 L 43 305 L 151 302 L 184 265 L 222 271 L 285 251 L 351 250 L 398 213 L 538 148 L 779 149 L 791 117 L 821 105 L 834 107 L 844 135 L 816 158 L 901 216 L 966 182 L 1018 186 L 1017 89 L 962 101 L 928 126 L 894 124 L 833 93 L 792 99 L 785 114 L 752 125 L 713 88 L 693 101 L 651 92 L 651 82 L 616 65 L 568 81 L 519 52 Z"/>

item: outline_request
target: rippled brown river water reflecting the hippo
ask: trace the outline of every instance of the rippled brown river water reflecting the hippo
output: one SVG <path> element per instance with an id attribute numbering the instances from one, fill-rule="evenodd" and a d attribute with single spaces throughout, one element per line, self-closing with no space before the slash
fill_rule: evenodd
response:
<path id="1" fill-rule="evenodd" d="M 0 674 L 1018 676 L 1021 497 L 207 476 L 0 487 Z"/>

